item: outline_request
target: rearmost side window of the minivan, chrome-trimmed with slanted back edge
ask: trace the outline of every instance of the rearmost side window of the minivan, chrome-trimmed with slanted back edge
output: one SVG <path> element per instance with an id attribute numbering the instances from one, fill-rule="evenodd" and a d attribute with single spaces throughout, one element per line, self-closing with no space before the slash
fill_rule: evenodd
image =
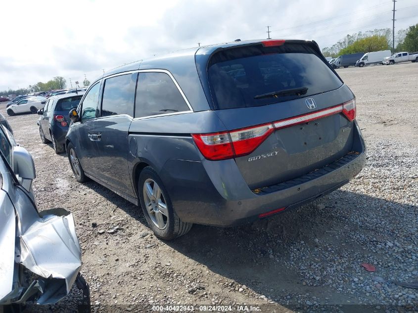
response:
<path id="1" fill-rule="evenodd" d="M 139 73 L 135 117 L 189 111 L 185 99 L 166 73 Z"/>

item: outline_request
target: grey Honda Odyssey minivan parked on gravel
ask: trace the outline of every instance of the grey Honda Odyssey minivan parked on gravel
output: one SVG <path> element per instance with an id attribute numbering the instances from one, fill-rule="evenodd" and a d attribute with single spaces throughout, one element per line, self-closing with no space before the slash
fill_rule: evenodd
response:
<path id="1" fill-rule="evenodd" d="M 164 239 L 298 207 L 366 159 L 354 94 L 312 41 L 233 42 L 126 65 L 95 80 L 70 116 L 76 179 L 140 204 Z"/>

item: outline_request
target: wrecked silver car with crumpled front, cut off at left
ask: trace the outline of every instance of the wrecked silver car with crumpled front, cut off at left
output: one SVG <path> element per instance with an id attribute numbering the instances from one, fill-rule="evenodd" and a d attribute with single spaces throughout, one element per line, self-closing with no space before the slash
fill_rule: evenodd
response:
<path id="1" fill-rule="evenodd" d="M 0 312 L 10 304 L 54 304 L 80 277 L 73 216 L 64 209 L 38 212 L 32 156 L 2 126 L 0 157 Z"/>

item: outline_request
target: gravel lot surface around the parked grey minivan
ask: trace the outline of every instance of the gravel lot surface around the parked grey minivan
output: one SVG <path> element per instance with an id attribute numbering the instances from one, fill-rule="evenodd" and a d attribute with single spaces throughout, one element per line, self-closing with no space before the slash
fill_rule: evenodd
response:
<path id="1" fill-rule="evenodd" d="M 417 311 L 418 289 L 397 283 L 418 281 L 418 63 L 337 72 L 357 96 L 369 156 L 360 175 L 297 210 L 235 228 L 194 225 L 173 242 L 155 238 L 138 207 L 95 182 L 78 183 L 66 155 L 41 143 L 37 115 L 7 116 L 34 158 L 39 208 L 74 214 L 93 312 L 212 304 Z M 75 312 L 79 294 L 46 311 Z"/>

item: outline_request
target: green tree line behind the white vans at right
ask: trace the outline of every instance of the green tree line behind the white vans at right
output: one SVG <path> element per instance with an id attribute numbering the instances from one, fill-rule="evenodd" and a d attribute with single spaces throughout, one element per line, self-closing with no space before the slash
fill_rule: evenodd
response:
<path id="1" fill-rule="evenodd" d="M 397 32 L 398 44 L 395 51 L 414 52 L 418 50 L 418 24 Z M 375 29 L 347 35 L 336 44 L 322 49 L 324 56 L 337 57 L 342 54 L 389 50 L 392 46 L 390 28 Z"/>

